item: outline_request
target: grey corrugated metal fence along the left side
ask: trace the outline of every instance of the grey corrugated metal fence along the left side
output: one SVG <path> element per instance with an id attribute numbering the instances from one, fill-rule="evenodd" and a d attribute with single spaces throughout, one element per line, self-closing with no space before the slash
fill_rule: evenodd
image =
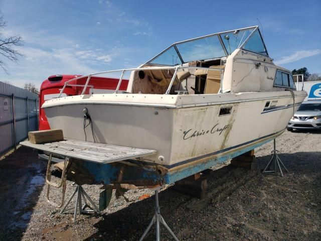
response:
<path id="1" fill-rule="evenodd" d="M 0 154 L 38 129 L 38 101 L 37 94 L 0 81 Z"/>

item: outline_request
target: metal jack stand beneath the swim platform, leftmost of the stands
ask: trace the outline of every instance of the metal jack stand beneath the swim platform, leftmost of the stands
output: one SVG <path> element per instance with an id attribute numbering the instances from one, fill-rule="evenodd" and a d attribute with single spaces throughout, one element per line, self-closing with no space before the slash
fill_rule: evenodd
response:
<path id="1" fill-rule="evenodd" d="M 77 196 L 76 196 L 75 207 L 71 207 L 71 208 L 67 209 L 67 206 L 69 205 L 69 203 L 71 202 L 71 200 L 73 199 L 73 197 L 75 196 L 76 193 L 77 193 Z M 85 202 L 84 205 L 82 205 L 81 197 L 84 199 L 84 202 Z M 91 203 L 93 208 L 88 205 L 88 203 L 86 201 L 86 198 Z M 89 209 L 85 210 L 87 207 Z M 88 196 L 88 194 L 85 192 L 85 190 L 82 188 L 81 185 L 77 185 L 74 193 L 71 195 L 71 197 L 69 198 L 68 202 L 66 203 L 66 205 L 61 210 L 61 213 L 66 213 L 66 212 L 71 211 L 73 209 L 74 209 L 74 222 L 76 222 L 76 215 L 77 215 L 78 210 L 79 210 L 79 214 L 83 214 L 83 213 L 84 214 L 100 213 L 99 208 L 91 200 L 91 198 Z"/>

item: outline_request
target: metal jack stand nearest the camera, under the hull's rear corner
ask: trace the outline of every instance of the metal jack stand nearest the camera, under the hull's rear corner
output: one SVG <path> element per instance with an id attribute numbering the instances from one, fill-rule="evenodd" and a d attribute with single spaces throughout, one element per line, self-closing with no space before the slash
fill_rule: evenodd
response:
<path id="1" fill-rule="evenodd" d="M 144 237 L 146 236 L 147 232 L 149 231 L 152 224 L 156 222 L 156 241 L 161 240 L 161 225 L 160 223 L 163 223 L 163 225 L 167 228 L 167 230 L 171 233 L 171 235 L 174 237 L 176 241 L 179 241 L 179 239 L 176 237 L 174 232 L 171 230 L 171 228 L 167 225 L 164 218 L 161 215 L 161 212 L 159 211 L 159 203 L 158 203 L 158 189 L 155 190 L 155 201 L 156 201 L 156 207 L 155 207 L 155 214 L 152 217 L 150 223 L 148 224 L 146 230 L 142 234 L 142 236 L 139 238 L 139 241 L 142 241 Z"/>

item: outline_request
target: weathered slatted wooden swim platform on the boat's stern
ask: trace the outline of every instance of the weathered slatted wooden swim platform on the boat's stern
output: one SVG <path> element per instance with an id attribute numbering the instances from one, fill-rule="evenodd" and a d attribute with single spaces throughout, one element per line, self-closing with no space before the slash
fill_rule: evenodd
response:
<path id="1" fill-rule="evenodd" d="M 64 140 L 46 144 L 33 144 L 30 141 L 26 141 L 21 142 L 20 144 L 22 146 L 31 147 L 37 150 L 96 163 L 111 163 L 131 158 L 149 156 L 156 153 L 155 150 L 149 149 L 139 149 L 77 140 Z"/>

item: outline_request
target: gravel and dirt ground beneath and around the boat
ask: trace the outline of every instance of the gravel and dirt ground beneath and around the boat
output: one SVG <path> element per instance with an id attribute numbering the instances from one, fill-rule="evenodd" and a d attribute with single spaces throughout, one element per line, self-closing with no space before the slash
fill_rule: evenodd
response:
<path id="1" fill-rule="evenodd" d="M 180 240 L 321 240 L 321 132 L 277 138 L 289 170 L 284 177 L 261 174 L 272 145 L 255 150 L 255 170 L 227 163 L 211 172 L 204 200 L 171 187 L 159 193 L 161 213 Z M 129 202 L 113 196 L 102 215 L 78 215 L 73 223 L 72 214 L 60 214 L 46 201 L 45 169 L 23 147 L 0 161 L 1 240 L 138 240 L 153 215 L 152 192 L 130 190 Z M 67 199 L 74 188 L 69 182 Z M 99 186 L 84 188 L 98 203 Z M 61 195 L 60 189 L 51 191 Z M 154 239 L 152 228 L 145 240 Z M 173 240 L 164 227 L 162 240 Z"/>

